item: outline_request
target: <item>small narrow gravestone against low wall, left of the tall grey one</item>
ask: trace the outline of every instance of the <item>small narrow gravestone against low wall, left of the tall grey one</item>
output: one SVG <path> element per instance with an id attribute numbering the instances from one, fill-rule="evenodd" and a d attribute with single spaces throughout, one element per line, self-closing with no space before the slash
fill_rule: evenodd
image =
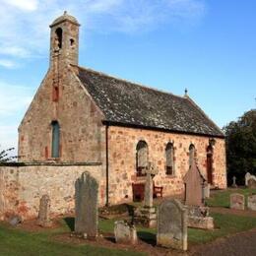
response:
<path id="1" fill-rule="evenodd" d="M 43 195 L 40 199 L 37 224 L 45 227 L 52 224 L 50 220 L 50 198 L 48 195 Z"/>

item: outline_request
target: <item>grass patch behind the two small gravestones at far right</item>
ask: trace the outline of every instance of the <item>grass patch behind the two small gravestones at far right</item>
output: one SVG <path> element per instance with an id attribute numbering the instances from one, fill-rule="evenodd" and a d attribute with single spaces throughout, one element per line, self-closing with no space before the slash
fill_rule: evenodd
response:
<path id="1" fill-rule="evenodd" d="M 229 208 L 229 198 L 232 193 L 240 193 L 245 196 L 245 200 L 251 194 L 256 194 L 256 189 L 252 188 L 237 188 L 220 190 L 211 195 L 211 198 L 207 200 L 207 205 L 210 207 L 225 207 Z"/>

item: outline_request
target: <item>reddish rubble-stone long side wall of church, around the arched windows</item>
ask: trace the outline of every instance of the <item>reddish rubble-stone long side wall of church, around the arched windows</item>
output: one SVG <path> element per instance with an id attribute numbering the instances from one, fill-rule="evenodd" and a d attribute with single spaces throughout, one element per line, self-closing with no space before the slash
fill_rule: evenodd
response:
<path id="1" fill-rule="evenodd" d="M 109 127 L 109 198 L 110 203 L 132 201 L 132 183 L 144 182 L 136 176 L 136 146 L 140 140 L 149 147 L 149 161 L 160 170 L 155 183 L 163 186 L 163 196 L 181 194 L 184 190 L 183 177 L 189 169 L 189 146 L 196 149 L 196 161 L 202 174 L 207 178 L 206 160 L 209 137 L 172 134 L 160 131 Z M 214 146 L 214 186 L 226 188 L 224 139 L 216 138 Z M 165 174 L 165 147 L 168 142 L 174 146 L 175 174 Z"/>

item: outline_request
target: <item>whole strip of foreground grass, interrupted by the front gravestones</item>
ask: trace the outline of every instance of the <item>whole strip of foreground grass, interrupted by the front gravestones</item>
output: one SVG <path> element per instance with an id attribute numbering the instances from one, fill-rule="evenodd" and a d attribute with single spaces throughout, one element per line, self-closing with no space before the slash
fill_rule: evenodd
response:
<path id="1" fill-rule="evenodd" d="M 256 218 L 223 215 L 212 213 L 217 228 L 215 230 L 202 230 L 188 228 L 189 244 L 206 243 L 231 233 L 251 229 L 256 226 Z M 68 221 L 67 221 L 68 220 Z M 95 247 L 88 244 L 72 245 L 65 241 L 54 239 L 59 234 L 68 234 L 74 225 L 74 219 L 61 221 L 61 226 L 44 231 L 25 231 L 20 228 L 0 224 L 0 255 L 146 255 L 131 251 L 113 250 Z M 114 220 L 100 220 L 101 232 L 113 232 Z M 137 227 L 138 236 L 142 240 L 154 243 L 156 229 Z"/>

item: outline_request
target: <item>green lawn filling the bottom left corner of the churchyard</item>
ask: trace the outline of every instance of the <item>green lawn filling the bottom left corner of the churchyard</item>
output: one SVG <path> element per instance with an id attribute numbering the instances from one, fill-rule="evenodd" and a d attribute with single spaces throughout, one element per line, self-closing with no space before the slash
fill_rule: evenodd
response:
<path id="1" fill-rule="evenodd" d="M 91 245 L 72 245 L 54 240 L 54 236 L 63 232 L 70 232 L 69 225 L 62 222 L 60 228 L 42 231 L 29 232 L 6 224 L 0 225 L 0 255 L 28 256 L 28 255 L 114 255 L 114 256 L 139 256 L 145 255 L 132 251 L 122 251 L 101 248 Z"/>

